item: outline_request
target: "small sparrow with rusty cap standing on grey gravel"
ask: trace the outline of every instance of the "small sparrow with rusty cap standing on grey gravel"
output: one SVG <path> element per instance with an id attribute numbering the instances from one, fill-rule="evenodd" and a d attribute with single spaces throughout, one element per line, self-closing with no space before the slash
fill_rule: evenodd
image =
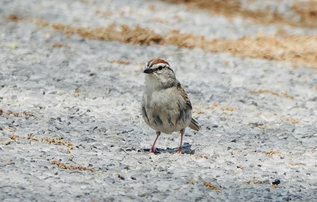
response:
<path id="1" fill-rule="evenodd" d="M 180 131 L 181 152 L 186 127 L 199 130 L 198 123 L 191 118 L 191 102 L 176 79 L 170 65 L 164 60 L 153 59 L 146 63 L 146 89 L 143 94 L 142 117 L 156 131 L 156 139 L 150 149 L 155 152 L 155 142 L 162 133 Z"/>

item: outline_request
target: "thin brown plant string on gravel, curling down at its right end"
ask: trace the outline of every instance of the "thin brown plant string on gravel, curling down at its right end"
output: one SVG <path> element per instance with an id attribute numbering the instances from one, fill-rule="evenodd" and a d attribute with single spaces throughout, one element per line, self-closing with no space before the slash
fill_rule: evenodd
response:
<path id="1" fill-rule="evenodd" d="M 63 145 L 68 147 L 67 151 L 68 153 L 72 153 L 71 150 L 74 148 L 74 145 L 70 143 L 69 141 L 64 141 L 61 139 L 61 137 L 50 137 L 50 138 L 36 138 L 34 136 L 28 135 L 26 137 L 19 137 L 16 135 L 10 136 L 11 140 L 21 140 L 21 139 L 27 139 L 27 140 L 33 140 L 36 142 L 46 142 L 48 144 L 57 143 L 59 145 Z"/>

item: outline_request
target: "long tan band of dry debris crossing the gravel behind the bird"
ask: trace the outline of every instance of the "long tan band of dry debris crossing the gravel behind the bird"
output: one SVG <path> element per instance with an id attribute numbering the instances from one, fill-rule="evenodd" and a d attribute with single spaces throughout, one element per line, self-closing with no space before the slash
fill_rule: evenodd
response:
<path id="1" fill-rule="evenodd" d="M 123 43 L 151 45 L 172 44 L 180 48 L 198 47 L 212 53 L 230 52 L 235 56 L 264 58 L 299 63 L 316 68 L 317 66 L 317 36 L 285 35 L 284 38 L 274 36 L 245 36 L 241 39 L 207 40 L 203 36 L 180 33 L 173 30 L 167 35 L 155 34 L 152 29 L 129 28 L 122 25 L 118 28 L 112 24 L 106 28 L 83 28 L 64 24 L 52 24 L 52 28 L 66 35 L 79 35 L 83 38 L 120 41 Z"/>

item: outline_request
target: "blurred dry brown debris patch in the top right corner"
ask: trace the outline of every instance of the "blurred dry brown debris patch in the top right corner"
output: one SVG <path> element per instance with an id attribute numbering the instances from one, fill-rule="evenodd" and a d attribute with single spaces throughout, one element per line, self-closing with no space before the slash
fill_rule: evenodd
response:
<path id="1" fill-rule="evenodd" d="M 237 0 L 162 0 L 167 3 L 186 4 L 190 9 L 207 10 L 213 15 L 223 15 L 230 19 L 240 16 L 244 19 L 252 19 L 261 24 L 282 24 L 301 27 L 317 27 L 317 2 L 300 1 L 295 2 L 292 9 L 300 16 L 300 21 L 295 22 L 289 19 L 277 10 L 271 11 L 268 7 L 262 10 L 244 9 L 242 3 Z"/>

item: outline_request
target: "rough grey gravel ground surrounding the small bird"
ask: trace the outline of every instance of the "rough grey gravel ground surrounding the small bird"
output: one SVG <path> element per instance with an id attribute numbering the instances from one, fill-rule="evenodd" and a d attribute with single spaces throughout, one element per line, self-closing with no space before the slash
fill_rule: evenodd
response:
<path id="1" fill-rule="evenodd" d="M 160 9 L 149 14 L 150 5 Z M 161 8 L 183 20 L 160 29 L 153 19 Z M 156 33 L 175 25 L 210 38 L 277 27 L 141 0 L 2 1 L 0 15 L 12 13 L 23 19 L 0 18 L 1 201 L 317 200 L 315 70 L 197 48 L 67 37 L 28 18 L 84 27 L 117 22 Z M 178 147 L 178 133 L 159 137 L 160 154 L 143 152 L 155 139 L 140 113 L 142 69 L 152 58 L 170 63 L 202 125 L 196 134 L 186 129 L 184 154 L 167 152 Z M 95 171 L 69 169 L 80 166 Z"/>

